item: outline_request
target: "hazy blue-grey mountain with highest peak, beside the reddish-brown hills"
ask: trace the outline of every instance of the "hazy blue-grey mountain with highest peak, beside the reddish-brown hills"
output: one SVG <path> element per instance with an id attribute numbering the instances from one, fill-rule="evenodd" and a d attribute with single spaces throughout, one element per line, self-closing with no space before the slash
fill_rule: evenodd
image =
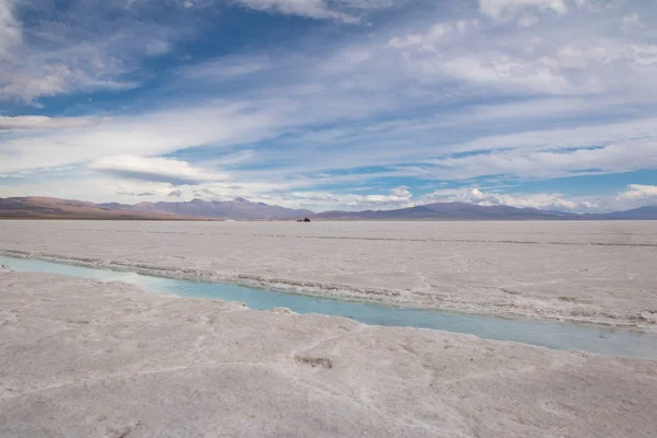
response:
<path id="1" fill-rule="evenodd" d="M 244 198 L 234 198 L 233 200 L 193 199 L 181 203 L 140 203 L 136 205 L 101 204 L 100 206 L 113 210 L 119 208 L 123 210 L 221 219 L 296 219 L 314 215 L 310 210 L 252 203 Z"/>

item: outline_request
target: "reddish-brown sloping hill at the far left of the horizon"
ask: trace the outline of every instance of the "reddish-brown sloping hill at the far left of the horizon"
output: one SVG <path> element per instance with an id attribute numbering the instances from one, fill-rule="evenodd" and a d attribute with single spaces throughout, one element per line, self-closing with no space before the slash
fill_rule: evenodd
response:
<path id="1" fill-rule="evenodd" d="M 0 218 L 11 219 L 115 219 L 115 220 L 198 220 L 199 218 L 157 212 L 103 208 L 74 199 L 39 196 L 0 198 Z"/>

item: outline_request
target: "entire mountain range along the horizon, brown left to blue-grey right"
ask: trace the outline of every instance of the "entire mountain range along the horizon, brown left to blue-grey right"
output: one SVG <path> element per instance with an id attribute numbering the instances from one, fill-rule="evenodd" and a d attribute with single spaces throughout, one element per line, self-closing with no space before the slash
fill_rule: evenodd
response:
<path id="1" fill-rule="evenodd" d="M 292 209 L 244 198 L 193 199 L 135 205 L 94 204 L 48 197 L 0 198 L 0 218 L 116 220 L 657 220 L 657 206 L 609 214 L 570 214 L 535 208 L 436 203 L 392 210 L 324 211 Z"/>

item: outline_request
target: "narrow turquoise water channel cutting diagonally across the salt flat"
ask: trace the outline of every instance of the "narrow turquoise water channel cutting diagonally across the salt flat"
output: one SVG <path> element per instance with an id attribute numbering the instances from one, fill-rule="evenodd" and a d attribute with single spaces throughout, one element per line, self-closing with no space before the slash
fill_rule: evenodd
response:
<path id="1" fill-rule="evenodd" d="M 289 308 L 298 313 L 345 316 L 365 324 L 436 328 L 480 337 L 514 341 L 555 349 L 657 359 L 657 335 L 558 321 L 505 319 L 442 311 L 402 309 L 339 301 L 245 286 L 155 277 L 132 272 L 92 268 L 31 258 L 0 256 L 0 264 L 18 272 L 42 272 L 102 281 L 124 281 L 154 292 L 180 297 L 244 302 L 250 309 Z M 0 291 L 1 293 L 1 291 Z"/>

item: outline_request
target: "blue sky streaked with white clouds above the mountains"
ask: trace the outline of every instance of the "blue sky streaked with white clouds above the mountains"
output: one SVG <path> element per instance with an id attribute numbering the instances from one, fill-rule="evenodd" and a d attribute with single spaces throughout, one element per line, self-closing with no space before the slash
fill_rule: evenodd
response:
<path id="1" fill-rule="evenodd" d="M 657 205 L 654 0 L 0 0 L 0 197 Z"/>

